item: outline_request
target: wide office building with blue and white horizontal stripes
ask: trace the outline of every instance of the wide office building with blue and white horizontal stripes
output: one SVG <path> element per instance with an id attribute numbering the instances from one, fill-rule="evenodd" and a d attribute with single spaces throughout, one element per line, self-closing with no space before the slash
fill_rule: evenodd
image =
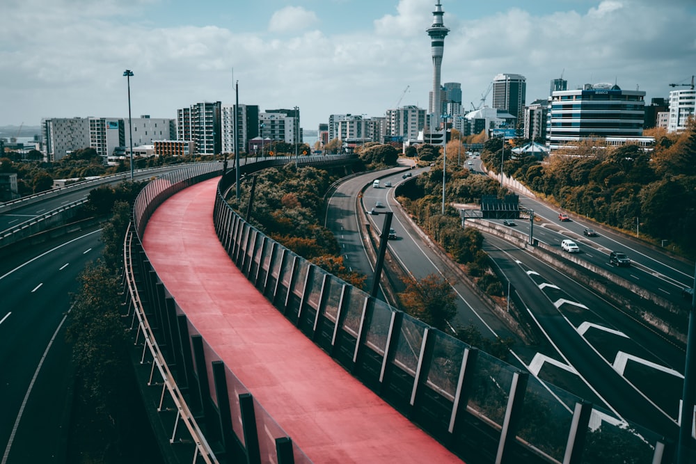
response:
<path id="1" fill-rule="evenodd" d="M 641 90 L 622 90 L 610 83 L 554 92 L 549 98 L 546 143 L 552 150 L 593 138 L 611 145 L 633 141 L 646 146 L 654 139 L 642 136 L 644 97 Z"/>

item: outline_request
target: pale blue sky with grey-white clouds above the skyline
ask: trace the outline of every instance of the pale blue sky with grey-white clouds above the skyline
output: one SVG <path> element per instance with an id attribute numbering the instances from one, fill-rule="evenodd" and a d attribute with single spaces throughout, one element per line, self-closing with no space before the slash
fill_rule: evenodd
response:
<path id="1" fill-rule="evenodd" d="M 41 118 L 176 118 L 196 102 L 383 116 L 432 90 L 434 0 L 2 0 L 0 125 Z M 695 0 L 442 0 L 442 82 L 466 109 L 496 74 L 529 104 L 551 79 L 668 97 L 696 74 Z M 408 90 L 404 93 L 404 90 Z M 688 88 L 679 86 L 677 88 Z M 491 104 L 491 95 L 486 100 Z"/>

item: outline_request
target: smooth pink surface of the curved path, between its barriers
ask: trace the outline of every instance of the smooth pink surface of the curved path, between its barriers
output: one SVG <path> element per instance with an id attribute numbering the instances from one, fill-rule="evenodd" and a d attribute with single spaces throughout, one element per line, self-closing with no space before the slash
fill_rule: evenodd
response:
<path id="1" fill-rule="evenodd" d="M 164 202 L 143 246 L 221 360 L 315 463 L 461 463 L 315 346 L 232 264 L 212 222 L 218 182 Z"/>

